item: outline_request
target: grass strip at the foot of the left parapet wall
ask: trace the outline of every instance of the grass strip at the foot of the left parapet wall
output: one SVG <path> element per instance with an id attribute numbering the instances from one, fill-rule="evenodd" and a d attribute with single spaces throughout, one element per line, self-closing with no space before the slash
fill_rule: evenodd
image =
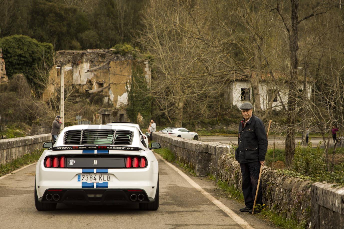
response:
<path id="1" fill-rule="evenodd" d="M 44 149 L 35 150 L 31 153 L 26 153 L 22 157 L 17 158 L 9 163 L 0 165 L 0 176 L 6 175 L 14 170 L 17 170 L 25 165 L 32 164 L 38 161 Z"/>

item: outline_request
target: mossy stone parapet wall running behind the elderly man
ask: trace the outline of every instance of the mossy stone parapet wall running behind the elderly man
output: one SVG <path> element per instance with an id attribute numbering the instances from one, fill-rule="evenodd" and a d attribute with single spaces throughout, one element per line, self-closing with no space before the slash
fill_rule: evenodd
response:
<path id="1" fill-rule="evenodd" d="M 154 132 L 153 141 L 174 153 L 176 160 L 189 165 L 197 175 L 212 174 L 241 190 L 240 164 L 232 145 L 171 137 Z M 264 167 L 262 170 L 263 203 L 267 209 L 297 220 L 307 228 L 342 228 L 344 225 L 344 188 L 333 184 L 313 183 L 286 176 Z"/>

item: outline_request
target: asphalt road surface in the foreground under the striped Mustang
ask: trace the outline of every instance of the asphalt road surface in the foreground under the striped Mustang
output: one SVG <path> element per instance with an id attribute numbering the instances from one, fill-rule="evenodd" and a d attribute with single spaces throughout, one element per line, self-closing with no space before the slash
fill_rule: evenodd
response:
<path id="1" fill-rule="evenodd" d="M 159 160 L 160 207 L 68 207 L 37 211 L 35 164 L 0 177 L 0 228 L 276 228 L 249 213 L 243 203 L 225 198 L 216 182 L 193 177 Z"/>

